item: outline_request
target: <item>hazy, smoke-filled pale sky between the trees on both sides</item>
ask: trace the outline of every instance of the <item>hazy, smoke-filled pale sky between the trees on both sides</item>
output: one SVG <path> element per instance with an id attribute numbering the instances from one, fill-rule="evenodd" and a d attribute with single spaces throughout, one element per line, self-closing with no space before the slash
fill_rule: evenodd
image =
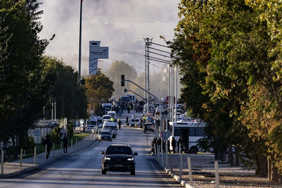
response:
<path id="1" fill-rule="evenodd" d="M 89 41 L 101 41 L 100 46 L 109 47 L 109 59 L 103 59 L 107 69 L 114 60 L 125 60 L 130 65 L 144 66 L 144 39 L 166 45 L 174 38 L 178 23 L 178 3 L 181 0 L 83 0 L 82 5 L 82 55 L 89 57 Z M 38 0 L 43 2 L 40 10 L 43 30 L 41 38 L 55 38 L 46 54 L 59 59 L 70 58 L 70 64 L 78 59 L 80 0 Z M 159 48 L 158 48 L 159 49 Z M 161 47 L 160 47 L 161 49 Z M 164 49 L 170 51 L 169 49 Z M 77 62 L 76 62 L 77 63 Z M 160 66 L 161 63 L 154 62 Z M 74 67 L 77 68 L 77 67 Z M 88 68 L 87 58 L 82 60 L 81 70 Z M 138 67 L 135 67 L 136 71 Z M 160 71 L 152 66 L 150 69 Z M 143 71 L 143 70 L 141 70 Z"/>

